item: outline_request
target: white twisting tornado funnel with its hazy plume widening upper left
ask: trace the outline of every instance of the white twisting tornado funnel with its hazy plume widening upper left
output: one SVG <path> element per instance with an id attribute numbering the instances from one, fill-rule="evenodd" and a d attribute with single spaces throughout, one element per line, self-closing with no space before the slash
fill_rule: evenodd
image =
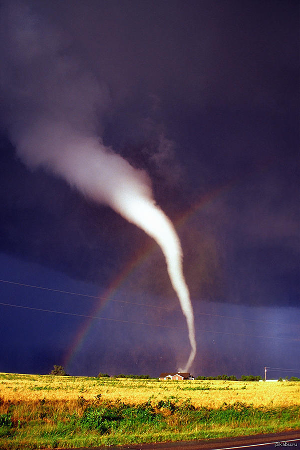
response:
<path id="1" fill-rule="evenodd" d="M 196 354 L 194 316 L 175 228 L 156 205 L 146 172 L 133 168 L 98 137 L 95 110 L 99 105 L 95 102 L 107 101 L 105 89 L 59 44 L 59 33 L 28 11 L 23 7 L 6 11 L 13 20 L 1 45 L 5 61 L 2 88 L 12 104 L 11 140 L 29 167 L 42 166 L 63 177 L 160 245 L 187 321 L 191 351 L 180 370 L 188 371 Z M 15 70 L 19 76 L 9 76 Z"/>

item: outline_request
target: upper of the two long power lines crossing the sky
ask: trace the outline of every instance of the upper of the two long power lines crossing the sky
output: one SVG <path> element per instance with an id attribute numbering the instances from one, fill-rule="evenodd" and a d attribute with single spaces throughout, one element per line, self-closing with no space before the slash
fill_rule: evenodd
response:
<path id="1" fill-rule="evenodd" d="M 0 282 L 2 283 L 8 283 L 8 284 L 16 284 L 18 286 L 24 286 L 24 287 L 31 287 L 34 289 L 42 289 L 42 290 L 48 290 L 51 292 L 58 292 L 58 293 L 66 293 L 69 295 L 78 295 L 81 297 L 87 297 L 87 298 L 94 298 L 94 299 L 98 299 L 98 300 L 108 300 L 108 301 L 115 301 L 118 303 L 127 303 L 127 304 L 134 304 L 136 306 L 146 306 L 146 307 L 151 307 L 151 308 L 157 308 L 157 309 L 165 309 L 168 310 L 168 308 L 166 306 L 157 306 L 154 304 L 145 304 L 145 303 L 137 303 L 137 302 L 133 302 L 133 301 L 127 301 L 127 300 L 117 300 L 115 298 L 108 298 L 108 297 L 101 297 L 101 296 L 97 296 L 97 295 L 89 295 L 89 294 L 83 294 L 83 293 L 79 293 L 79 292 L 71 292 L 71 291 L 67 291 L 67 290 L 61 290 L 61 289 L 53 289 L 51 287 L 43 287 L 43 286 L 36 286 L 34 284 L 25 284 L 25 283 L 19 283 L 16 281 L 8 281 L 6 279 L 0 279 Z M 177 312 L 181 312 L 181 309 L 175 309 L 175 311 Z M 222 318 L 230 318 L 230 319 L 235 319 L 235 320 L 247 320 L 247 321 L 251 321 L 251 322 L 260 322 L 260 323 L 271 323 L 274 325 L 283 325 L 283 326 L 300 326 L 298 323 L 280 323 L 280 322 L 273 322 L 270 320 L 258 320 L 258 319 L 248 319 L 248 318 L 244 318 L 244 317 L 234 317 L 234 316 L 229 316 L 229 315 L 221 315 L 221 314 L 212 314 L 209 312 L 194 312 L 194 314 L 197 315 L 209 315 L 209 316 L 213 316 L 213 317 L 222 317 Z"/>

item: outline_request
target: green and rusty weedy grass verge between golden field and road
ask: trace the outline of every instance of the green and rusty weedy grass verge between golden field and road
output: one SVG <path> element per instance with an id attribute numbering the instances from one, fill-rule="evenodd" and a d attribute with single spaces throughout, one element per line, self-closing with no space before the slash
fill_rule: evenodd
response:
<path id="1" fill-rule="evenodd" d="M 243 434 L 260 429 L 277 431 L 300 426 L 300 407 L 255 408 L 224 403 L 220 408 L 196 408 L 191 399 L 170 395 L 138 405 L 106 401 L 41 399 L 1 401 L 0 448 L 68 448 L 84 445 L 201 438 Z M 238 430 L 238 431 L 237 431 Z M 178 437 L 180 434 L 180 437 Z M 91 440 L 92 437 L 92 440 Z"/>

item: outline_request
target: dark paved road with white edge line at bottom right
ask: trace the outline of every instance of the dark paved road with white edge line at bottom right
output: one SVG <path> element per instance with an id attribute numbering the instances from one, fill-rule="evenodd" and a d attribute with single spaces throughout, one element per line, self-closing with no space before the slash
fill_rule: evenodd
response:
<path id="1" fill-rule="evenodd" d="M 292 445 L 293 444 L 293 445 Z M 80 447 L 74 450 L 226 450 L 231 448 L 250 450 L 300 450 L 300 430 L 272 434 L 255 434 L 222 439 L 187 440 L 180 442 L 157 442 L 149 444 L 112 445 L 102 447 Z"/>

